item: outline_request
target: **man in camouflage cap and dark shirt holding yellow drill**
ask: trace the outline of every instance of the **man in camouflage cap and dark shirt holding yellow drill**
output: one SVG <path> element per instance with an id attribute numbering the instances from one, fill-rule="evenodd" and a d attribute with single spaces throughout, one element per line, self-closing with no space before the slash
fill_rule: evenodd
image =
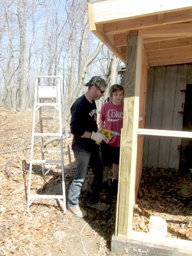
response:
<path id="1" fill-rule="evenodd" d="M 86 211 L 79 206 L 79 195 L 84 186 L 88 165 L 94 175 L 92 186 L 88 192 L 88 207 L 105 211 L 108 205 L 99 202 L 99 192 L 102 188 L 104 166 L 99 145 L 102 140 L 108 143 L 109 138 L 100 134 L 97 129 L 97 108 L 95 100 L 104 95 L 107 84 L 100 76 L 94 76 L 86 83 L 88 91 L 79 97 L 72 105 L 70 129 L 74 134 L 72 150 L 76 159 L 76 173 L 68 192 L 67 208 L 79 218 L 87 216 Z"/>

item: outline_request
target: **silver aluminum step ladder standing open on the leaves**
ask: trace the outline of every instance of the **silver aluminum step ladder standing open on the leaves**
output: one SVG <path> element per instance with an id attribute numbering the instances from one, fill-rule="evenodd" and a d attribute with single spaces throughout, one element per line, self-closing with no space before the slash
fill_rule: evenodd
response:
<path id="1" fill-rule="evenodd" d="M 54 112 L 53 116 L 52 116 L 52 110 Z M 51 115 L 49 115 L 50 113 Z M 64 127 L 65 127 L 65 140 L 67 144 L 67 150 L 65 151 L 63 151 L 62 118 L 64 122 Z M 44 132 L 44 127 L 45 127 L 44 120 L 52 120 L 52 122 L 55 122 L 54 125 L 52 125 L 52 127 L 53 129 L 55 128 L 57 131 Z M 65 213 L 66 212 L 66 196 L 65 196 L 64 171 L 70 170 L 70 174 L 71 174 L 72 163 L 71 163 L 71 157 L 70 157 L 70 147 L 68 143 L 67 122 L 65 118 L 65 104 L 64 104 L 63 93 L 61 90 L 61 82 L 60 82 L 59 76 L 37 76 L 36 77 L 35 106 L 34 106 L 34 113 L 33 113 L 33 129 L 32 130 L 33 131 L 32 131 L 32 140 L 31 140 L 31 157 L 30 157 L 30 164 L 29 164 L 29 186 L 28 186 L 27 209 L 29 209 L 30 205 L 33 203 L 33 200 L 35 200 L 35 198 L 45 198 L 45 199 L 48 198 L 48 199 L 58 200 L 61 206 L 63 207 L 63 212 Z M 35 132 L 35 131 L 38 131 L 38 132 Z M 36 138 L 39 138 L 41 143 L 41 150 L 40 152 L 38 152 L 39 156 L 41 155 L 40 157 L 41 159 L 35 159 L 34 157 L 34 153 L 36 153 L 34 152 L 34 141 Z M 45 145 L 47 142 L 45 140 L 47 140 L 47 138 L 49 138 L 49 141 L 50 140 L 54 141 L 55 138 L 58 138 L 60 140 L 59 150 L 47 150 L 47 148 L 45 149 Z M 48 145 L 50 145 L 50 143 L 48 143 Z M 59 158 L 60 158 L 59 160 L 52 159 L 54 158 L 53 156 L 55 154 L 59 155 Z M 68 163 L 69 163 L 68 166 L 64 165 L 63 154 L 68 156 Z M 51 159 L 47 159 L 47 156 L 48 158 L 51 158 Z M 51 170 L 61 169 L 62 195 L 42 195 L 42 194 L 31 193 L 31 178 L 32 178 L 33 167 L 35 167 L 33 166 L 33 164 L 35 163 L 42 165 L 42 176 L 44 180 L 45 180 L 45 175 L 47 175 L 47 173 L 49 173 Z"/>

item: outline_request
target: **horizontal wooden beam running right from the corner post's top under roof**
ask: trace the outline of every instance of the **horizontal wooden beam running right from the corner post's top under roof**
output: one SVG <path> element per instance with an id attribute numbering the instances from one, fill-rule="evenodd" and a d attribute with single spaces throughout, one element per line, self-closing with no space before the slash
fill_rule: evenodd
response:
<path id="1" fill-rule="evenodd" d="M 157 26 L 156 28 L 140 29 L 143 36 L 192 36 L 192 22 Z"/>

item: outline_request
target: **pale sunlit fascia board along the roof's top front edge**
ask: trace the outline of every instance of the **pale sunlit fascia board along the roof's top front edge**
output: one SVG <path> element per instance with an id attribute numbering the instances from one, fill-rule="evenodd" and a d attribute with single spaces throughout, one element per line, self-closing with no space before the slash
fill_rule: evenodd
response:
<path id="1" fill-rule="evenodd" d="M 92 4 L 92 3 L 89 3 Z M 190 9 L 192 6 L 191 0 L 175 1 L 161 0 L 161 5 L 158 1 L 146 0 L 143 1 L 127 1 L 127 0 L 108 0 L 96 1 L 94 4 L 95 22 L 109 22 L 111 20 L 124 20 L 127 17 L 145 16 L 159 14 L 163 12 L 173 12 Z"/>

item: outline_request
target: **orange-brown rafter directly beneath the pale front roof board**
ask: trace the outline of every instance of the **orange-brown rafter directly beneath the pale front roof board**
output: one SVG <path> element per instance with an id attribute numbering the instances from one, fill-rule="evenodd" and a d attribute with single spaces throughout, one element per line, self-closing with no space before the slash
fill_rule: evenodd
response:
<path id="1" fill-rule="evenodd" d="M 178 12 L 168 11 L 167 13 L 159 13 L 156 15 L 148 15 L 144 17 L 108 22 L 103 24 L 103 28 L 106 35 L 114 35 L 124 33 L 125 31 L 132 29 L 152 28 L 159 25 L 190 21 L 192 21 L 192 9 L 179 10 Z"/>

